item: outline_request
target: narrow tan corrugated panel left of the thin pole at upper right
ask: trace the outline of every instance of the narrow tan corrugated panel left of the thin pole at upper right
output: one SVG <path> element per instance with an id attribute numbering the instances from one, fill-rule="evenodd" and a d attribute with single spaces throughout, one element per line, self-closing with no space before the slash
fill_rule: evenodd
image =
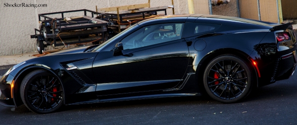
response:
<path id="1" fill-rule="evenodd" d="M 257 0 L 239 0 L 241 18 L 259 20 Z"/>

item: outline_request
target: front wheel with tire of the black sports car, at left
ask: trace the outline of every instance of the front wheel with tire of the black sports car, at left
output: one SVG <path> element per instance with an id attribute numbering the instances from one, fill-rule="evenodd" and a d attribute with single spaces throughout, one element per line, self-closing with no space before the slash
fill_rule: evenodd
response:
<path id="1" fill-rule="evenodd" d="M 44 69 L 25 76 L 20 94 L 26 107 L 39 114 L 52 113 L 64 104 L 61 82 L 57 76 Z"/>

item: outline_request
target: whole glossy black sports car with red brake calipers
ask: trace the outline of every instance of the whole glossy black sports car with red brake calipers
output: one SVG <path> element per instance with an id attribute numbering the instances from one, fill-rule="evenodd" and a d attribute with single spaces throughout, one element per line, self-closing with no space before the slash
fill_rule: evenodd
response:
<path id="1" fill-rule="evenodd" d="M 64 104 L 203 92 L 232 103 L 293 75 L 296 49 L 292 23 L 202 14 L 157 17 L 101 45 L 13 66 L 0 80 L 0 104 L 50 113 Z"/>

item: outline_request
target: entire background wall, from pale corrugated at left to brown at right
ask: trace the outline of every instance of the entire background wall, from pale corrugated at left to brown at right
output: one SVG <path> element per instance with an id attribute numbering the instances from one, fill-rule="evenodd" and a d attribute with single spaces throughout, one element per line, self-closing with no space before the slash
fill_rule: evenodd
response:
<path id="1" fill-rule="evenodd" d="M 238 0 L 231 0 L 228 4 L 212 6 L 212 13 L 239 17 Z M 278 22 L 276 0 L 259 0 L 261 20 Z M 297 18 L 296 0 L 282 0 L 284 19 Z M 0 0 L 0 56 L 30 53 L 36 50 L 36 39 L 31 39 L 34 29 L 39 28 L 38 14 L 98 8 L 114 7 L 146 3 L 148 0 Z M 195 13 L 209 14 L 209 0 L 194 0 Z M 47 7 L 4 7 L 5 3 L 47 4 Z M 171 5 L 171 0 L 150 0 L 150 6 Z M 240 15 L 242 18 L 258 20 L 257 0 L 239 0 Z M 174 0 L 175 14 L 187 14 L 188 0 Z M 172 14 L 172 9 L 167 9 Z M 79 16 L 83 13 L 65 14 L 64 17 Z M 52 15 L 52 18 L 60 15 Z M 62 46 L 58 47 L 61 48 Z M 50 46 L 45 50 L 52 49 Z"/>

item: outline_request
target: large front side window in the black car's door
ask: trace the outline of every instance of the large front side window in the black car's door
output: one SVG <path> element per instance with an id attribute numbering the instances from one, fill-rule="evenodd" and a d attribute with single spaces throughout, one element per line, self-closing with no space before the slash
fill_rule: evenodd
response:
<path id="1" fill-rule="evenodd" d="M 184 23 L 156 24 L 134 31 L 121 40 L 124 50 L 181 39 Z"/>

